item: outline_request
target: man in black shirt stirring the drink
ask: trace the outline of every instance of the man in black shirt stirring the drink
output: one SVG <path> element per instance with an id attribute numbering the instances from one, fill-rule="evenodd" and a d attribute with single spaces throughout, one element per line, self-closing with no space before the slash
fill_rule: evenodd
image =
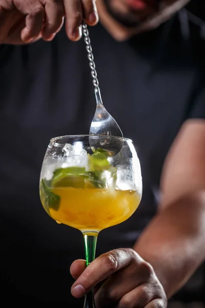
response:
<path id="1" fill-rule="evenodd" d="M 128 221 L 100 233 L 99 257 L 85 269 L 83 260 L 72 263 L 84 256 L 81 234 L 45 213 L 38 181 L 51 137 L 89 131 L 95 100 L 85 44 L 70 40 L 80 38 L 83 17 L 97 23 L 95 3 L 0 0 L 1 297 L 8 306 L 80 307 L 99 283 L 97 307 L 164 308 L 204 260 L 204 42 L 179 10 L 187 3 L 97 1 L 100 24 L 89 30 L 100 89 L 134 141 L 144 190 Z"/>

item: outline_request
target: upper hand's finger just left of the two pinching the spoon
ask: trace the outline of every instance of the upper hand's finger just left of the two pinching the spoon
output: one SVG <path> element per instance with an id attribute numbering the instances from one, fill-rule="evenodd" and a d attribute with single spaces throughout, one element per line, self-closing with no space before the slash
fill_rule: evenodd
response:
<path id="1" fill-rule="evenodd" d="M 58 32 L 63 24 L 64 5 L 63 0 L 49 0 L 45 4 L 45 21 L 42 31 L 43 38 L 49 40 Z"/>

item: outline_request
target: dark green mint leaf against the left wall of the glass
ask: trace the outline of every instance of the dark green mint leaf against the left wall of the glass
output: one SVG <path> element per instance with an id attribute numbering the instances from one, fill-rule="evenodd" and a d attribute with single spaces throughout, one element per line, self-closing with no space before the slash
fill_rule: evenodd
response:
<path id="1" fill-rule="evenodd" d="M 44 198 L 44 206 L 47 213 L 50 215 L 49 208 L 58 210 L 60 207 L 60 196 L 54 194 L 51 189 L 46 185 L 45 180 L 40 182 L 40 195 Z"/>

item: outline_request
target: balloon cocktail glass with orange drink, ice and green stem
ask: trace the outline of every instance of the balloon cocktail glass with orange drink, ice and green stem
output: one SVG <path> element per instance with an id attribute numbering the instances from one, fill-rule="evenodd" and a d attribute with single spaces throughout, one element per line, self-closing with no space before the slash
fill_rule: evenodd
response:
<path id="1" fill-rule="evenodd" d="M 99 148 L 91 148 L 92 139 Z M 130 139 L 112 136 L 53 138 L 39 190 L 48 215 L 81 231 L 89 265 L 95 258 L 98 233 L 127 220 L 140 203 L 141 169 L 134 145 Z M 91 307 L 95 307 L 92 291 L 84 303 L 84 308 Z"/>

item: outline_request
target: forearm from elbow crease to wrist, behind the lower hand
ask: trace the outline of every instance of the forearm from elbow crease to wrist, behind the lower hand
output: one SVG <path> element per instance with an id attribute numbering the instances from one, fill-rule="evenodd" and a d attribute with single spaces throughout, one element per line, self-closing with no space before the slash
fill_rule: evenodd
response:
<path id="1" fill-rule="evenodd" d="M 205 258 L 205 201 L 183 198 L 159 211 L 134 246 L 155 269 L 168 298 Z"/>

